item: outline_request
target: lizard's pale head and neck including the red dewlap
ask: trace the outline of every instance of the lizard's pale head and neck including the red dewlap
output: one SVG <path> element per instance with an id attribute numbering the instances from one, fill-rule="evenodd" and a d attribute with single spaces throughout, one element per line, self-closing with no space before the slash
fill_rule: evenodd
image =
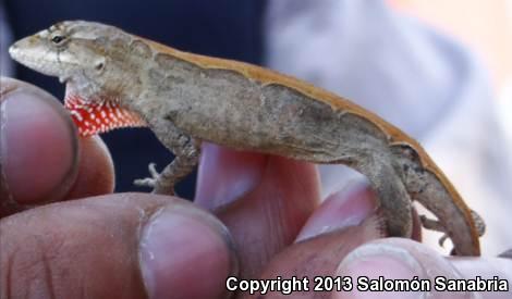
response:
<path id="1" fill-rule="evenodd" d="M 66 21 L 25 37 L 9 49 L 11 57 L 66 84 L 64 105 L 82 136 L 118 127 L 144 126 L 124 103 L 137 97 L 139 67 L 130 58 L 130 36 L 112 26 Z"/>

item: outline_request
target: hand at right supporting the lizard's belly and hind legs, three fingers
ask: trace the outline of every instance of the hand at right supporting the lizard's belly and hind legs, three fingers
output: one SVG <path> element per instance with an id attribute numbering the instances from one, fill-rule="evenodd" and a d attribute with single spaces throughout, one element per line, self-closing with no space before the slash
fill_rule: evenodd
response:
<path id="1" fill-rule="evenodd" d="M 374 213 L 375 197 L 365 186 L 352 185 L 317 205 L 318 180 L 309 164 L 207 145 L 199 165 L 195 202 L 210 210 L 222 207 L 217 214 L 230 228 L 237 245 L 242 277 L 275 281 L 277 276 L 283 279 L 308 277 L 312 283 L 309 289 L 315 287 L 315 277 L 328 277 L 316 282 L 325 282 L 325 288 L 329 277 L 349 277 L 353 287 L 353 291 L 341 287 L 342 291 L 333 294 L 292 292 L 294 298 L 298 295 L 304 298 L 425 296 L 425 292 L 357 291 L 357 286 L 365 286 L 364 282 L 357 282 L 363 276 L 409 281 L 417 276 L 431 282 L 437 276 L 448 279 L 475 279 L 476 276 L 491 279 L 498 276 L 507 279 L 510 289 L 512 252 L 508 253 L 509 259 L 447 258 L 417 241 L 382 238 L 386 233 L 381 232 L 379 219 Z M 294 210 L 307 212 L 293 215 Z M 241 211 L 246 213 L 241 214 Z M 417 216 L 415 220 L 413 238 L 420 239 Z M 249 225 L 252 223 L 254 225 Z M 272 247 L 276 242 L 280 244 L 277 248 Z M 346 279 L 339 282 L 338 286 Z M 439 281 L 438 286 L 442 287 L 442 283 Z M 430 287 L 430 298 L 475 296 L 470 291 L 436 291 L 434 284 Z M 512 291 L 478 294 L 480 298 L 509 298 Z M 272 294 L 279 295 L 282 296 Z"/>

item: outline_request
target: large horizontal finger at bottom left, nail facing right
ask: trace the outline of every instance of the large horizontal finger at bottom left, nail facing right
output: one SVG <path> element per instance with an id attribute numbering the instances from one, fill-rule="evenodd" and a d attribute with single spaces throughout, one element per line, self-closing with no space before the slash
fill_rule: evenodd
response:
<path id="1" fill-rule="evenodd" d="M 225 227 L 170 197 L 44 205 L 1 220 L 0 234 L 2 298 L 218 298 L 235 269 Z"/>

